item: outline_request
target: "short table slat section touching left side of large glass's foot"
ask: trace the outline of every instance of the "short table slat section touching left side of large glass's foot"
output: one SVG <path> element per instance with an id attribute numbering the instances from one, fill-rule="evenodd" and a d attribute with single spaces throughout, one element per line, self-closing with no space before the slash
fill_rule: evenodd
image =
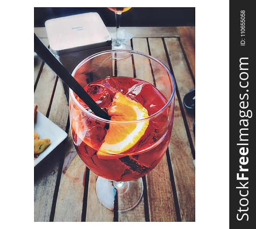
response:
<path id="1" fill-rule="evenodd" d="M 105 208 L 98 200 L 95 192 L 95 182 L 97 175 L 90 171 L 89 186 L 88 186 L 88 198 L 86 208 L 86 221 L 113 221 L 113 211 Z"/>

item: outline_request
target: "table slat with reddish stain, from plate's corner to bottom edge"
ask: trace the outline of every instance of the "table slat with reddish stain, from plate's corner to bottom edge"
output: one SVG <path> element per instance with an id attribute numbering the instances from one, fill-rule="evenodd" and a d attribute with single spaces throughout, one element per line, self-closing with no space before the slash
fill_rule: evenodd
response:
<path id="1" fill-rule="evenodd" d="M 70 131 L 65 152 L 54 221 L 81 221 L 86 166 L 76 152 Z"/>

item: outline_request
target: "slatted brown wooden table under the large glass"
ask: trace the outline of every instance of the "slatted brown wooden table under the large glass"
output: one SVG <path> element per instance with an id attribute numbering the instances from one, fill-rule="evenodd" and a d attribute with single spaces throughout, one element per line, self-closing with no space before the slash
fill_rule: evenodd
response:
<path id="1" fill-rule="evenodd" d="M 108 27 L 110 32 L 115 28 Z M 113 213 L 97 200 L 96 175 L 73 145 L 68 102 L 62 82 L 39 57 L 34 66 L 34 102 L 38 110 L 68 132 L 34 171 L 34 221 L 195 221 L 194 114 L 183 97 L 195 83 L 194 27 L 126 27 L 134 35 L 134 50 L 150 54 L 168 66 L 177 84 L 169 149 L 151 173 L 143 177 L 144 194 L 136 208 Z M 34 29 L 49 45 L 44 27 Z"/>

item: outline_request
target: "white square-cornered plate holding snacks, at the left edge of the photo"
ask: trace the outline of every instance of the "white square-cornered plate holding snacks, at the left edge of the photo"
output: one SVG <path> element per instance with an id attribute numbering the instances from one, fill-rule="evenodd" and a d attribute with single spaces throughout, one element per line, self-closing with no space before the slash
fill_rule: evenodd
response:
<path id="1" fill-rule="evenodd" d="M 34 167 L 42 161 L 52 150 L 54 150 L 68 134 L 58 127 L 55 123 L 46 118 L 44 114 L 37 111 L 36 123 L 34 123 L 34 131 L 39 134 L 39 139 L 49 138 L 51 144 L 42 152 L 38 158 L 34 160 Z"/>

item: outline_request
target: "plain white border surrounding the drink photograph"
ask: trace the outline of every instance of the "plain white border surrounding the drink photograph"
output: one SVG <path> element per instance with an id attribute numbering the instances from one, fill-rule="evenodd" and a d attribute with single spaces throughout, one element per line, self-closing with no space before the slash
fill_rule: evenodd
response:
<path id="1" fill-rule="evenodd" d="M 57 3 L 57 1 L 56 1 Z M 116 4 L 115 4 L 116 3 Z M 87 5 L 90 4 L 90 5 Z M 228 227 L 228 1 L 62 1 L 54 4 L 8 2 L 1 13 L 2 101 L 1 208 L 2 224 L 34 224 L 32 172 L 33 14 L 34 6 L 196 6 L 196 222 L 160 223 L 165 228 Z M 11 89 L 11 88 L 13 89 Z M 70 228 L 75 223 L 61 226 Z M 156 227 L 159 223 L 77 223 L 76 227 Z M 156 225 L 157 224 L 157 225 Z M 47 224 L 55 228 L 55 224 Z"/>

